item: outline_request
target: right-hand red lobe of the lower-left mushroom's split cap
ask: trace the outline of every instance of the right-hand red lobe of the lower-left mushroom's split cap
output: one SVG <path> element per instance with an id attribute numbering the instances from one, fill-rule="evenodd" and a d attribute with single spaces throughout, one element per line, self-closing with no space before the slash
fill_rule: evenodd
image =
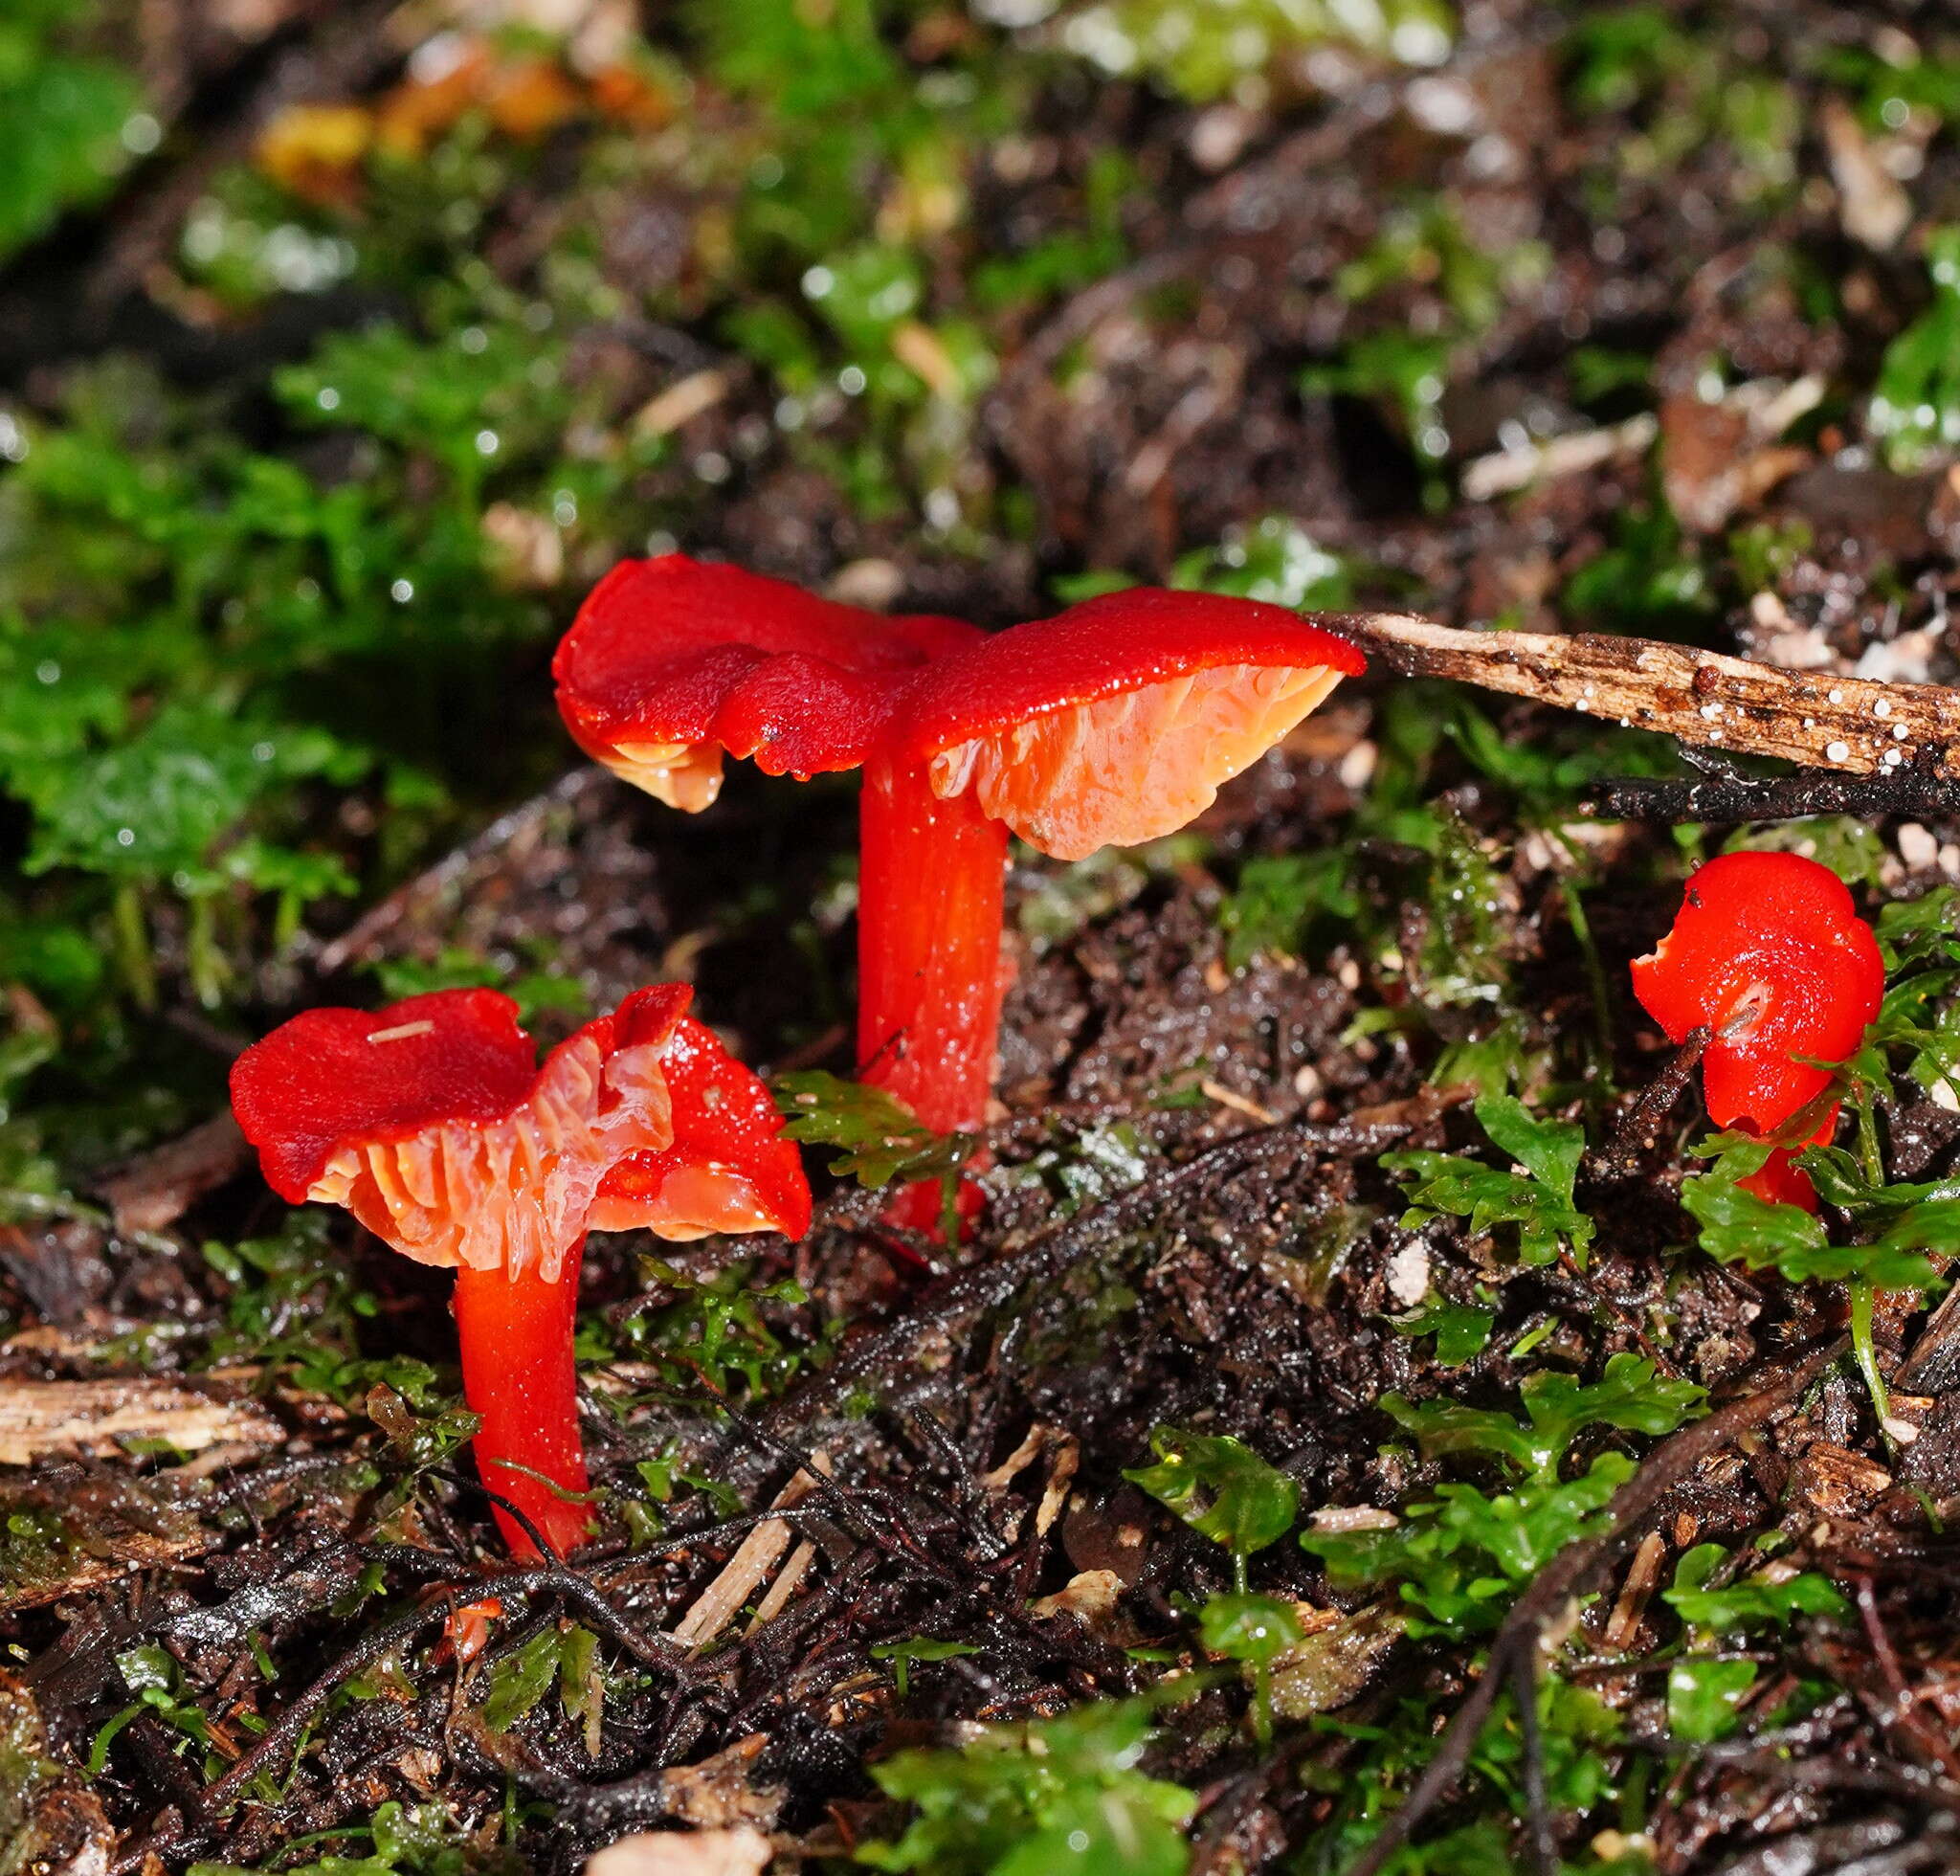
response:
<path id="1" fill-rule="evenodd" d="M 782 1115 L 713 1029 L 684 1015 L 661 1062 L 672 1102 L 674 1145 L 629 1153 L 600 1182 L 594 1231 L 653 1231 L 666 1239 L 710 1231 L 809 1229 L 809 1180 Z"/>

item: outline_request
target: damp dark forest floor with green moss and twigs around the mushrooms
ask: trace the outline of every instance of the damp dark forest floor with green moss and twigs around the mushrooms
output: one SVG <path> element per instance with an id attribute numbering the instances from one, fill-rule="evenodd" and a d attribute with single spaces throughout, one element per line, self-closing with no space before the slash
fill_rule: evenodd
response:
<path id="1" fill-rule="evenodd" d="M 223 1106 L 478 982 L 851 1074 L 849 778 L 557 725 L 627 553 L 1950 682 L 1956 131 L 1905 4 L 10 8 L 0 1870 L 1960 1868 L 1960 806 L 1374 670 L 1017 851 L 984 1217 L 594 1239 L 553 1568 Z M 1739 843 L 1887 947 L 1819 1221 L 1629 990 Z"/>

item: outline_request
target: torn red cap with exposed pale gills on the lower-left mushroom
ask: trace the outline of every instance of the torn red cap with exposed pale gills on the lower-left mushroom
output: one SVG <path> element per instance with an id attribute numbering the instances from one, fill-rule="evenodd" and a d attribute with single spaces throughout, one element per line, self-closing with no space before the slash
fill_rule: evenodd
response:
<path id="1" fill-rule="evenodd" d="M 655 1188 L 686 1172 L 688 1204 L 676 1192 L 662 1215 L 798 1215 L 782 1196 L 792 1168 L 757 1149 L 751 1115 L 766 1092 L 700 1041 L 690 998 L 682 984 L 637 990 L 543 1064 L 517 1006 L 494 990 L 437 990 L 374 1013 L 308 1010 L 237 1059 L 231 1106 L 282 1198 L 345 1206 L 419 1262 L 555 1282 L 606 1176 L 631 1155 L 676 1149 L 670 1055 L 692 1137 Z M 710 1082 L 729 1127 L 700 1092 Z"/>

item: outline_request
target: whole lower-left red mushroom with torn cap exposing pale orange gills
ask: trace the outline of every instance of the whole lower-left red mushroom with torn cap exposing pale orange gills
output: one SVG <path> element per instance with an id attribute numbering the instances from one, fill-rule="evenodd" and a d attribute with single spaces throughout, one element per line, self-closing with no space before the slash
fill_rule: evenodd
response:
<path id="1" fill-rule="evenodd" d="M 564 1496 L 586 1488 L 572 1368 L 586 1231 L 809 1225 L 766 1090 L 688 1017 L 690 996 L 639 990 L 543 1066 L 494 990 L 308 1010 L 231 1070 L 274 1192 L 345 1206 L 406 1257 L 455 1268 L 476 1466 L 557 1553 L 586 1533 Z M 498 1525 L 537 1555 L 502 1509 Z"/>

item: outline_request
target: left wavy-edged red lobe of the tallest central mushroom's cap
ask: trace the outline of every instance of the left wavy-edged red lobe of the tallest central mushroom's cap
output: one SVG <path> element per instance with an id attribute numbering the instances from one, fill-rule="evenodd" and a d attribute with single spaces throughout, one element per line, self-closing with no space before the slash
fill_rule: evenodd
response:
<path id="1" fill-rule="evenodd" d="M 978 637 L 670 553 L 600 580 L 551 674 L 586 755 L 692 812 L 719 792 L 723 751 L 766 774 L 858 766 L 904 680 Z"/>

